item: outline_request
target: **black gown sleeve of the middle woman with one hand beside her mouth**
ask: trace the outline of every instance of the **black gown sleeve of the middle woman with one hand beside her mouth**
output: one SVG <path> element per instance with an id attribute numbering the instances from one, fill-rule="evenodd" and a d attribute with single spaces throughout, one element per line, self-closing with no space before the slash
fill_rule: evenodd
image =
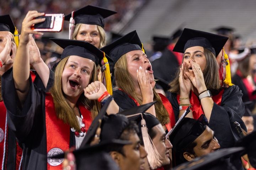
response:
<path id="1" fill-rule="evenodd" d="M 113 91 L 114 101 L 124 110 L 137 106 L 137 104 L 123 91 Z"/>

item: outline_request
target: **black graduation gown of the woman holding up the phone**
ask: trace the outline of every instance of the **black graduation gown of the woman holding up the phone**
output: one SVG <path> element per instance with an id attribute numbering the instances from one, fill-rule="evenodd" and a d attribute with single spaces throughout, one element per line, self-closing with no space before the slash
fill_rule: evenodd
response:
<path id="1" fill-rule="evenodd" d="M 52 83 L 53 81 L 51 80 L 50 82 Z M 33 84 L 30 78 L 30 90 L 23 108 L 20 109 L 12 70 L 2 76 L 2 89 L 9 129 L 14 131 L 18 142 L 23 148 L 22 169 L 46 170 L 45 91 Z M 75 146 L 75 135 L 74 132 L 70 131 L 71 146 Z"/>

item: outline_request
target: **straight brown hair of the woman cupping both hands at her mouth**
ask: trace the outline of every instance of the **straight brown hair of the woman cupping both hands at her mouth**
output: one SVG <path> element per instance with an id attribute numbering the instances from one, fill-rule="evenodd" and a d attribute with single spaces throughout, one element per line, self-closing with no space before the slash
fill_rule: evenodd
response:
<path id="1" fill-rule="evenodd" d="M 203 70 L 204 82 L 206 84 L 206 88 L 208 90 L 219 90 L 221 88 L 220 79 L 219 79 L 219 66 L 216 60 L 215 55 L 204 48 L 204 55 L 206 57 L 206 68 Z M 182 62 L 184 60 L 184 56 L 182 58 Z M 181 66 L 180 66 L 181 67 Z M 179 84 L 179 74 L 180 69 L 177 70 L 176 78 L 171 81 L 169 84 L 171 89 L 169 90 L 172 93 L 179 94 L 180 93 L 180 84 Z"/>

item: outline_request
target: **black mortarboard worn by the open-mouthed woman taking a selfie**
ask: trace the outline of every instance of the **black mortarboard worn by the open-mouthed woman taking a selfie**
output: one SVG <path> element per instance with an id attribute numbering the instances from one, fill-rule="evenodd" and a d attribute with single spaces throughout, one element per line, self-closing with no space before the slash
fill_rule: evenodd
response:
<path id="1" fill-rule="evenodd" d="M 89 42 L 59 38 L 50 39 L 64 49 L 61 59 L 67 56 L 75 55 L 88 58 L 94 61 L 96 65 L 101 65 L 101 60 L 104 57 L 103 52 Z M 109 58 L 108 56 L 106 57 L 108 61 L 112 61 L 111 58 Z"/>

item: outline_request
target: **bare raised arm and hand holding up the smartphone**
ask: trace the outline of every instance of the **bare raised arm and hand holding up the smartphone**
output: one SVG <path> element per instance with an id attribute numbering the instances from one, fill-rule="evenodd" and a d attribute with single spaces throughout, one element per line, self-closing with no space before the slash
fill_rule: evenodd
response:
<path id="1" fill-rule="evenodd" d="M 38 13 L 37 11 L 28 11 L 26 17 L 22 22 L 22 30 L 20 36 L 20 42 L 16 53 L 16 58 L 13 66 L 13 77 L 15 88 L 21 105 L 25 102 L 28 90 L 30 88 L 30 56 L 28 43 L 30 41 L 30 34 L 42 35 L 43 33 L 35 32 L 31 30 L 31 26 L 36 23 L 43 22 L 45 18 L 33 19 L 39 16 L 43 16 L 44 13 Z"/>

